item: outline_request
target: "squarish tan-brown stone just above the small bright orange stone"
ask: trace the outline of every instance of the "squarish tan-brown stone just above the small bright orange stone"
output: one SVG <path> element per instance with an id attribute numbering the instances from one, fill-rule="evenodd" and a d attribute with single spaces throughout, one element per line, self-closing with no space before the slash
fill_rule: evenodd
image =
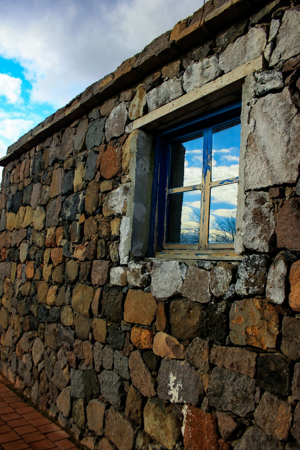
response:
<path id="1" fill-rule="evenodd" d="M 151 325 L 155 314 L 156 301 L 151 293 L 129 289 L 124 305 L 125 322 Z"/>

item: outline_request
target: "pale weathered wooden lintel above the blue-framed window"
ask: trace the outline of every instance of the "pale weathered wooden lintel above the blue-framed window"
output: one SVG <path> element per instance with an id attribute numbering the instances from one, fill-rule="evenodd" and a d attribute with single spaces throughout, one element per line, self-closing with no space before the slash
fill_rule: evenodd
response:
<path id="1" fill-rule="evenodd" d="M 242 88 L 244 79 L 249 73 L 263 68 L 263 56 L 252 59 L 231 72 L 219 76 L 214 81 L 184 94 L 176 100 L 149 112 L 133 122 L 133 130 L 140 128 L 151 131 L 170 126 L 171 123 L 182 121 L 192 117 L 207 105 L 214 104 L 218 100 L 233 98 L 235 93 Z"/>

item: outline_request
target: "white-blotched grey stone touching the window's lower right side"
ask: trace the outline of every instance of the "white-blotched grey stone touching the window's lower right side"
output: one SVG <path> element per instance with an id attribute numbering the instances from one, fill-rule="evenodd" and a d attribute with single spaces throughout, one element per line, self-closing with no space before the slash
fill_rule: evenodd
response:
<path id="1" fill-rule="evenodd" d="M 270 252 L 275 247 L 275 218 L 267 192 L 246 194 L 242 240 L 246 248 Z"/>

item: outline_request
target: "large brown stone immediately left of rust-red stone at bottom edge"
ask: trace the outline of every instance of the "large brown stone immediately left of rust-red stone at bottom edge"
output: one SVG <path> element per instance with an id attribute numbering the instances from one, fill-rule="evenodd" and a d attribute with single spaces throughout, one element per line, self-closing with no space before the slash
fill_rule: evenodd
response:
<path id="1" fill-rule="evenodd" d="M 145 431 L 167 449 L 172 450 L 180 441 L 181 419 L 174 405 L 159 398 L 151 398 L 144 408 Z M 150 448 L 150 447 L 149 447 Z"/>

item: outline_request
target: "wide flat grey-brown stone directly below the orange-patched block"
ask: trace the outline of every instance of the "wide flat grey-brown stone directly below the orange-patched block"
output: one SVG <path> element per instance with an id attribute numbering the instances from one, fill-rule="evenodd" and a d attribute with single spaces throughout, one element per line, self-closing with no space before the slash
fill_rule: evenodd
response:
<path id="1" fill-rule="evenodd" d="M 255 376 L 256 353 L 242 348 L 214 347 L 210 351 L 210 362 L 234 370 L 239 374 Z"/>

